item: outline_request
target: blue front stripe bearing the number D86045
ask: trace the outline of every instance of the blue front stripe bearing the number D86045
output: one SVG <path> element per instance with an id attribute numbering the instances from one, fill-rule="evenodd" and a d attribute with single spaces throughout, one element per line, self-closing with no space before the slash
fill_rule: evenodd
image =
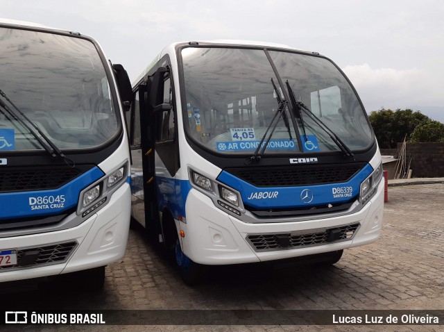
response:
<path id="1" fill-rule="evenodd" d="M 77 206 L 80 191 L 104 175 L 94 167 L 58 189 L 2 193 L 0 220 L 60 214 Z"/>

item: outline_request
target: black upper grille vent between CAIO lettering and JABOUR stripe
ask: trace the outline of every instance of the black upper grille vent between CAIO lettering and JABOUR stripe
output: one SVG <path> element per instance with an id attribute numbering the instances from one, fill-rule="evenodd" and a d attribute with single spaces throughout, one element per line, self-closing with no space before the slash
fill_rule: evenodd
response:
<path id="1" fill-rule="evenodd" d="M 296 187 L 347 182 L 365 164 L 309 165 L 292 167 L 257 167 L 253 169 L 225 169 L 255 187 Z"/>

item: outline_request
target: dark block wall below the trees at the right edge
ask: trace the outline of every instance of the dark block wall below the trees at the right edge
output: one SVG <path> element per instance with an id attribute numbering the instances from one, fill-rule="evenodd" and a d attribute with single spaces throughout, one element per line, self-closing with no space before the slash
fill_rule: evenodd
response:
<path id="1" fill-rule="evenodd" d="M 398 143 L 398 151 L 401 147 Z M 413 178 L 444 177 L 444 143 L 407 143 L 406 155 Z"/>

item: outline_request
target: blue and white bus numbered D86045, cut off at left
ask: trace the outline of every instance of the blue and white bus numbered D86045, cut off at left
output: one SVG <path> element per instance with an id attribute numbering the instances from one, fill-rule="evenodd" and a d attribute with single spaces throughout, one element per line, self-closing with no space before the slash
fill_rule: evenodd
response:
<path id="1" fill-rule="evenodd" d="M 94 39 L 0 20 L 0 281 L 103 285 L 128 239 L 132 97 Z"/>

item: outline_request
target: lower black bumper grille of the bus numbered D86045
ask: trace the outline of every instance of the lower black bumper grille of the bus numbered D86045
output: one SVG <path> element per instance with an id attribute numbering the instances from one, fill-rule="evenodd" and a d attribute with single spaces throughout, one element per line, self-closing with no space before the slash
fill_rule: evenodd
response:
<path id="1" fill-rule="evenodd" d="M 65 263 L 77 247 L 76 241 L 17 249 L 17 264 L 0 267 L 0 273 L 13 269 Z"/>

